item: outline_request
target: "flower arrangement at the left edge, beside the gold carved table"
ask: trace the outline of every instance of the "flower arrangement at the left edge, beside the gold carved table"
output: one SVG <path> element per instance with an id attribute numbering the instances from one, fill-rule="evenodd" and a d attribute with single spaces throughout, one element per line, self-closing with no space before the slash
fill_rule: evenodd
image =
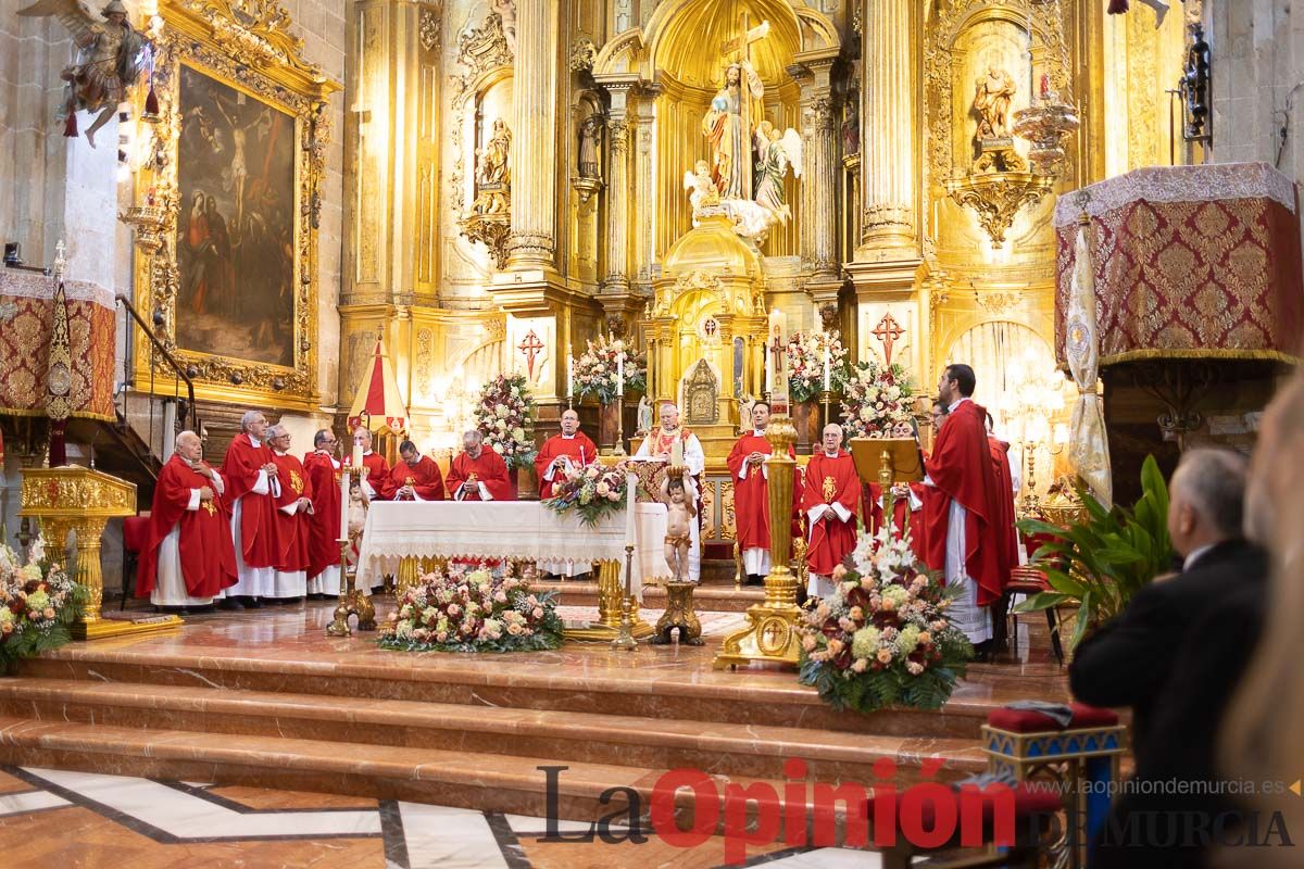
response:
<path id="1" fill-rule="evenodd" d="M 87 597 L 59 564 L 30 560 L 20 567 L 13 550 L 0 545 L 0 674 L 72 640 Z"/>

